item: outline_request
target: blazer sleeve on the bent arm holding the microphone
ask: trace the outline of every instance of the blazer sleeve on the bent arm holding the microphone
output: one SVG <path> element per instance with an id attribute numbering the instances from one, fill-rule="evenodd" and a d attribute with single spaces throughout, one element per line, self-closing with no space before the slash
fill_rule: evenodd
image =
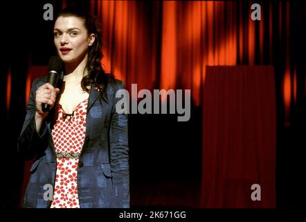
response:
<path id="1" fill-rule="evenodd" d="M 46 124 L 42 126 L 41 132 L 37 133 L 35 123 L 36 103 L 35 96 L 36 90 L 39 87 L 39 78 L 36 78 L 30 89 L 30 97 L 28 100 L 28 107 L 26 110 L 26 117 L 24 119 L 24 125 L 22 126 L 21 133 L 19 135 L 17 149 L 19 157 L 22 160 L 30 160 L 39 150 L 42 149 L 44 141 L 46 141 Z"/>

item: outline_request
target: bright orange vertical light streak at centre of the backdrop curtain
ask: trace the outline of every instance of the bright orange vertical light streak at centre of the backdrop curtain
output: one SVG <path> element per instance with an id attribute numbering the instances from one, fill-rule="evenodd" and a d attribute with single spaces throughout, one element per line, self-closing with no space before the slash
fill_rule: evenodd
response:
<path id="1" fill-rule="evenodd" d="M 161 43 L 161 89 L 174 89 L 177 67 L 177 2 L 163 1 L 163 39 Z"/>

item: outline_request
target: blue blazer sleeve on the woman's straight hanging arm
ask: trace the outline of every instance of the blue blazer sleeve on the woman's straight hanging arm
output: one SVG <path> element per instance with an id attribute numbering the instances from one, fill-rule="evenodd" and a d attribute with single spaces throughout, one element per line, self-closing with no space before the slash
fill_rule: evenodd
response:
<path id="1" fill-rule="evenodd" d="M 110 162 L 114 189 L 114 207 L 129 207 L 129 146 L 127 133 L 127 114 L 116 112 L 116 92 L 124 89 L 124 84 L 118 81 L 114 90 L 114 103 L 110 126 Z"/>

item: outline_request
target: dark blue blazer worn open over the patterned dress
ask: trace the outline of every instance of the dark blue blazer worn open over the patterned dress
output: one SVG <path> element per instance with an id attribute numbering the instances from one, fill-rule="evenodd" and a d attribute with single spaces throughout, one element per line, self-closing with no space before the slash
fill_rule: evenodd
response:
<path id="1" fill-rule="evenodd" d="M 46 83 L 44 78 L 34 80 L 24 126 L 18 139 L 18 152 L 24 160 L 35 157 L 30 167 L 30 179 L 23 199 L 23 207 L 50 207 L 48 187 L 54 187 L 56 155 L 51 137 L 52 109 L 42 131 L 35 124 L 35 94 Z M 78 165 L 78 197 L 81 208 L 129 207 L 129 148 L 127 114 L 116 112 L 118 89 L 124 85 L 114 80 L 107 86 L 107 99 L 100 102 L 100 93 L 91 85 L 87 106 L 87 125 L 84 145 Z M 50 198 L 51 196 L 51 198 Z"/>

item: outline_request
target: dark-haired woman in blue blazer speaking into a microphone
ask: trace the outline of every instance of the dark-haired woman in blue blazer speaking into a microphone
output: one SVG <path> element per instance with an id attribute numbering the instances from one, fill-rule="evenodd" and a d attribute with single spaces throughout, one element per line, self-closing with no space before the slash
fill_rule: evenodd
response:
<path id="1" fill-rule="evenodd" d="M 101 67 L 98 26 L 66 8 L 54 43 L 64 62 L 62 89 L 46 76 L 33 82 L 18 142 L 21 157 L 36 160 L 23 207 L 129 207 L 127 115 L 116 112 L 123 83 Z"/>

